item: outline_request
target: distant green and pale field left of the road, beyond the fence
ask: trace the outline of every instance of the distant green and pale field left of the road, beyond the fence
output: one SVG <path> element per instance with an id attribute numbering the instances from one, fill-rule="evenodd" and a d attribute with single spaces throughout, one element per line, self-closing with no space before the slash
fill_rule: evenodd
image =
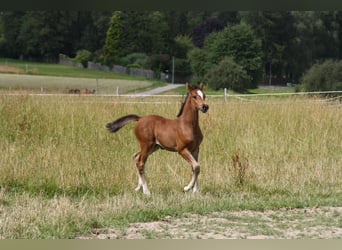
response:
<path id="1" fill-rule="evenodd" d="M 96 94 L 128 94 L 163 84 L 126 74 L 6 58 L 0 58 L 0 73 L 0 89 L 8 92 L 63 94 L 88 88 Z"/>

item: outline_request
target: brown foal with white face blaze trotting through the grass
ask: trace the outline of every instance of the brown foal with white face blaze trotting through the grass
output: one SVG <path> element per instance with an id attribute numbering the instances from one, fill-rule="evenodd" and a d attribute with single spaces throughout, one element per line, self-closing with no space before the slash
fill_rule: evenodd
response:
<path id="1" fill-rule="evenodd" d="M 144 167 L 150 154 L 159 148 L 172 152 L 178 152 L 192 166 L 192 179 L 184 187 L 184 191 L 193 188 L 198 191 L 197 177 L 200 172 L 198 164 L 199 146 L 203 134 L 198 124 L 198 111 L 207 112 L 209 106 L 205 103 L 205 95 L 202 92 L 203 84 L 199 88 L 186 85 L 188 95 L 181 111 L 176 119 L 168 119 L 159 115 L 127 115 L 108 123 L 106 127 L 116 132 L 130 121 L 137 121 L 134 133 L 140 144 L 140 151 L 134 155 L 138 169 L 139 183 L 136 191 L 141 188 L 147 195 L 150 191 L 144 176 Z"/>

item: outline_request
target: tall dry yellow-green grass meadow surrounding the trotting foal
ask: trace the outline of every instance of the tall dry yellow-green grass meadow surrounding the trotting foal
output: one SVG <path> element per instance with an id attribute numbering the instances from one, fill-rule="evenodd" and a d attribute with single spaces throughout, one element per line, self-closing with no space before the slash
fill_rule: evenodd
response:
<path id="1" fill-rule="evenodd" d="M 342 109 L 315 97 L 207 98 L 200 195 L 159 150 L 135 193 L 135 113 L 175 117 L 182 97 L 0 95 L 0 238 L 76 238 L 96 228 L 220 211 L 342 206 Z M 339 222 L 342 227 L 342 221 Z"/>

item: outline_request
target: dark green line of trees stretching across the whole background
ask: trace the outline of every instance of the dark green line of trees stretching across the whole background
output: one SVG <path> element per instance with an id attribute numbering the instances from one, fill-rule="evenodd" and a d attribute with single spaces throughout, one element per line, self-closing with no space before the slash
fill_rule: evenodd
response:
<path id="1" fill-rule="evenodd" d="M 0 56 L 174 71 L 214 88 L 298 82 L 342 57 L 341 11 L 5 11 Z"/>

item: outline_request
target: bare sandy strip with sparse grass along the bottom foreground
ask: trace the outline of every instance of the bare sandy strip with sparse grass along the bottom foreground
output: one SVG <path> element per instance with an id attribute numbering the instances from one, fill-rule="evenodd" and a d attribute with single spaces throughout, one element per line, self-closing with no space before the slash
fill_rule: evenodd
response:
<path id="1" fill-rule="evenodd" d="M 81 239 L 342 239 L 342 207 L 214 212 L 167 216 L 121 228 L 97 228 Z"/>

